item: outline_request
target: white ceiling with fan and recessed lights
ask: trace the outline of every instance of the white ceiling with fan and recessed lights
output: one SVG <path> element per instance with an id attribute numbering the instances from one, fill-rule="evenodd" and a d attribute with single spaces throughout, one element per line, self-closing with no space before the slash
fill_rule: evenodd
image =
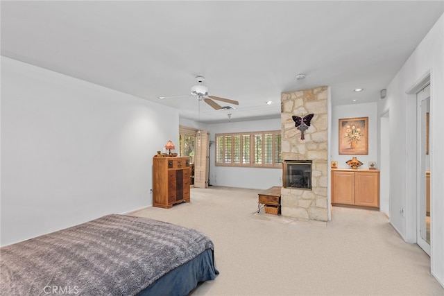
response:
<path id="1" fill-rule="evenodd" d="M 195 97 L 157 98 L 187 95 L 204 76 L 210 95 L 239 101 L 231 121 L 279 118 L 281 92 L 321 85 L 331 86 L 333 105 L 377 101 L 443 8 L 443 1 L 1 1 L 1 55 L 175 107 L 183 118 L 228 121 L 228 111 L 199 107 Z M 305 80 L 295 79 L 299 73 Z"/>

